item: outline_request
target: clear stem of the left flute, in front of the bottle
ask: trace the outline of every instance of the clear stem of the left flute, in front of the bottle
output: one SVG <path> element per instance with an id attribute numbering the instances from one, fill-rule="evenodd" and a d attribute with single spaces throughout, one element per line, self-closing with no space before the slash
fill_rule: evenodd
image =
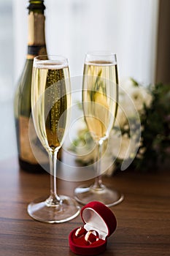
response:
<path id="1" fill-rule="evenodd" d="M 50 197 L 47 199 L 47 203 L 52 206 L 56 206 L 62 203 L 61 198 L 57 194 L 57 180 L 56 180 L 56 164 L 57 164 L 58 151 L 50 151 Z"/>

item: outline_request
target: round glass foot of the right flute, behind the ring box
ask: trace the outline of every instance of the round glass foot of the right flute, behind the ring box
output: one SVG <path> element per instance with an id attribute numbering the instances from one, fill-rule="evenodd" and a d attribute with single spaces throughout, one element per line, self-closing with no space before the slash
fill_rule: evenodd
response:
<path id="1" fill-rule="evenodd" d="M 109 189 L 103 185 L 101 189 L 93 188 L 93 186 L 87 187 L 80 186 L 74 190 L 74 198 L 83 205 L 91 201 L 99 201 L 106 206 L 115 206 L 123 201 L 123 194 L 114 189 Z"/>

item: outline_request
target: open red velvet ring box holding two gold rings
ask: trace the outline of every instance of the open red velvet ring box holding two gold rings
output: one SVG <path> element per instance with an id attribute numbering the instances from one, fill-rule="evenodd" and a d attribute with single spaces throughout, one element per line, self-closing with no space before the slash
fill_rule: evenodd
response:
<path id="1" fill-rule="evenodd" d="M 77 255 L 98 255 L 104 252 L 107 247 L 107 237 L 112 235 L 117 226 L 115 215 L 103 203 L 93 201 L 82 207 L 81 217 L 85 225 L 80 236 L 77 236 L 79 227 L 69 234 L 70 249 Z M 92 231 L 89 232 L 88 242 L 85 240 L 85 235 L 90 230 Z"/>

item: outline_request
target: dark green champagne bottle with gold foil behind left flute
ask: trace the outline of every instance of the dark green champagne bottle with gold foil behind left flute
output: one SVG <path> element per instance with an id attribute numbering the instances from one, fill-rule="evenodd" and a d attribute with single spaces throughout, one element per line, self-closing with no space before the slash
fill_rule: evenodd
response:
<path id="1" fill-rule="evenodd" d="M 35 56 L 47 54 L 45 44 L 45 5 L 44 1 L 30 0 L 28 5 L 28 53 L 23 72 L 15 93 L 14 112 L 20 168 L 39 172 L 43 168 L 36 160 L 29 136 L 31 115 L 31 76 Z M 33 125 L 33 124 L 32 124 Z M 38 140 L 38 139 L 37 139 Z M 36 143 L 37 143 L 37 140 Z M 41 151 L 39 147 L 37 150 Z"/>

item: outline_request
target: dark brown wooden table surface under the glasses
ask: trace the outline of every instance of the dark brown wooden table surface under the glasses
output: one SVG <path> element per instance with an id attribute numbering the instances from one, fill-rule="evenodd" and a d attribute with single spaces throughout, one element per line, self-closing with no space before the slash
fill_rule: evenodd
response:
<path id="1" fill-rule="evenodd" d="M 103 255 L 170 255 L 170 171 L 123 171 L 104 183 L 125 199 L 112 207 L 117 229 Z M 80 183 L 58 181 L 58 190 L 72 195 Z M 37 222 L 28 216 L 31 200 L 49 192 L 49 176 L 19 170 L 17 159 L 0 162 L 0 256 L 74 255 L 68 236 L 82 226 L 80 215 L 62 224 Z"/>

